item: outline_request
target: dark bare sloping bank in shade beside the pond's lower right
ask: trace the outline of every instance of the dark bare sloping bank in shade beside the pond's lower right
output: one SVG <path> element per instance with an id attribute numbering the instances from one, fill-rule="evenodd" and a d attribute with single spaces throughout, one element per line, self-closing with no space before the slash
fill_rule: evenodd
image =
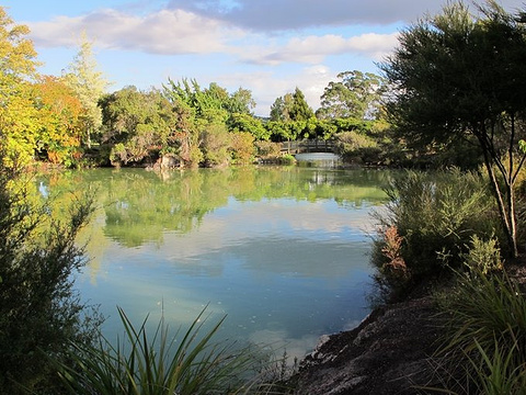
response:
<path id="1" fill-rule="evenodd" d="M 375 309 L 357 328 L 325 337 L 302 362 L 295 394 L 422 394 L 439 327 L 431 297 Z"/>

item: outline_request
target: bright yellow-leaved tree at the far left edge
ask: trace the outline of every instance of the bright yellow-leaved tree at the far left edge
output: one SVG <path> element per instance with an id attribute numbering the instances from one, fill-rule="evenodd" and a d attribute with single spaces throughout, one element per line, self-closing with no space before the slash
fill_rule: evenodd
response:
<path id="1" fill-rule="evenodd" d="M 31 81 L 36 77 L 36 52 L 25 38 L 25 25 L 15 25 L 0 7 L 0 149 L 4 166 L 24 165 L 36 147 L 37 111 Z"/>

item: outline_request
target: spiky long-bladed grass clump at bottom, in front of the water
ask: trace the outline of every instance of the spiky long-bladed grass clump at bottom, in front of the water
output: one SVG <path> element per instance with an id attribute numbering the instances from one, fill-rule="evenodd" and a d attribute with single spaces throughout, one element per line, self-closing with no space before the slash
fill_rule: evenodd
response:
<path id="1" fill-rule="evenodd" d="M 261 356 L 250 349 L 236 350 L 227 342 L 211 342 L 225 318 L 204 332 L 203 311 L 187 330 L 180 329 L 173 337 L 161 318 L 149 337 L 148 318 L 136 328 L 124 311 L 118 308 L 118 314 L 124 340 L 116 346 L 104 339 L 98 347 L 76 345 L 71 358 L 80 370 L 60 364 L 60 375 L 71 394 L 256 393 L 259 385 L 251 383 L 248 374 Z"/>

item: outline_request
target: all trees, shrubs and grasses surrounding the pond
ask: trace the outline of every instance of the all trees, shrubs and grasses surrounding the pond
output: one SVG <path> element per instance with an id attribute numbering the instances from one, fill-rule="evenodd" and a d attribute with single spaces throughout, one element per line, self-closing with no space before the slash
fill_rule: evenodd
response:
<path id="1" fill-rule="evenodd" d="M 524 13 L 508 14 L 494 1 L 478 7 L 476 14 L 451 3 L 401 33 L 400 47 L 381 65 L 390 89 L 384 106 L 384 91 L 376 89 L 384 80 L 342 74 L 342 82 L 325 90 L 322 111 L 309 110 L 297 89 L 276 99 L 263 127 L 250 114 L 250 92 L 242 89 L 228 94 L 217 84 L 202 90 L 195 81 L 170 80 L 163 93 L 127 88 L 101 99 L 100 75 L 93 69 L 82 72 L 91 81 L 76 79 L 75 65 L 80 63 L 65 80 L 35 80 L 36 54 L 23 37 L 27 32 L 11 29 L 0 8 L 5 44 L 0 49 L 5 59 L 0 86 L 7 103 L 0 108 L 2 392 L 294 392 L 273 384 L 272 359 L 268 364 L 268 358 L 254 358 L 251 350 L 215 345 L 220 321 L 206 329 L 201 316 L 173 347 L 162 321 L 150 336 L 121 311 L 126 341 L 107 343 L 98 331 L 96 311 L 80 304 L 70 275 L 83 263 L 75 239 L 92 210 L 89 199 L 79 198 L 69 219 L 59 223 L 49 206 L 36 202 L 20 169 L 35 157 L 66 166 L 144 163 L 164 156 L 187 167 L 241 163 L 252 157 L 254 146 L 268 146 L 272 138 L 332 136 L 336 131 L 347 133 L 341 145 L 353 155 L 358 145 L 368 156 L 385 159 L 375 161 L 414 159 L 415 165 L 415 158 L 424 158 L 427 165 L 438 160 L 472 169 L 408 172 L 392 181 L 387 212 L 377 216 L 380 228 L 371 257 L 376 303 L 433 290 L 444 328 L 430 356 L 433 384 L 415 383 L 405 391 L 524 394 L 525 21 Z M 90 56 L 89 45 L 79 56 Z M 340 88 L 356 93 L 356 82 L 380 95 L 334 99 Z M 92 94 L 82 95 L 85 102 L 79 99 L 79 87 L 92 88 Z M 354 104 L 354 115 L 338 112 L 334 100 L 350 104 L 346 109 Z M 67 104 L 68 111 L 58 111 L 57 103 Z M 146 114 L 132 122 L 128 115 L 139 109 Z M 375 121 L 365 120 L 371 114 Z M 167 120 L 175 126 L 164 127 Z M 355 138 L 364 128 L 371 133 Z M 381 137 L 364 143 L 371 135 Z M 382 157 L 382 149 L 401 153 L 403 160 Z M 250 371 L 258 374 L 247 376 Z"/>

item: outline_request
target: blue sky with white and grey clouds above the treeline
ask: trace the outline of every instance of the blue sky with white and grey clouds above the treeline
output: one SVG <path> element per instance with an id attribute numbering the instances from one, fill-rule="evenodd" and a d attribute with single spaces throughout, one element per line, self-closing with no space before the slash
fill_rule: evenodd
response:
<path id="1" fill-rule="evenodd" d="M 467 2 L 471 4 L 470 2 Z M 501 0 L 508 12 L 524 0 Z M 299 88 L 316 111 L 330 81 L 343 71 L 380 74 L 378 63 L 401 30 L 437 0 L 3 0 L 16 24 L 26 24 L 43 61 L 59 76 L 84 32 L 98 68 L 111 82 L 147 90 L 195 79 L 235 92 L 249 89 L 254 114 L 267 116 L 278 97 Z M 474 7 L 471 7 L 474 10 Z"/>

